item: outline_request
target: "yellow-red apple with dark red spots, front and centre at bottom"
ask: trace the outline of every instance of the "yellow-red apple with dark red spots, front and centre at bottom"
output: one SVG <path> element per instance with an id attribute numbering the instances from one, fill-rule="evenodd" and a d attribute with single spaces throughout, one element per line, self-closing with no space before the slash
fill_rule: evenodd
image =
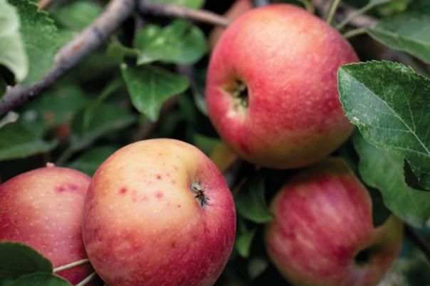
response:
<path id="1" fill-rule="evenodd" d="M 202 206 L 192 185 L 209 198 Z M 213 285 L 236 232 L 233 197 L 199 149 L 152 139 L 117 150 L 85 200 L 88 257 L 110 286 Z"/>

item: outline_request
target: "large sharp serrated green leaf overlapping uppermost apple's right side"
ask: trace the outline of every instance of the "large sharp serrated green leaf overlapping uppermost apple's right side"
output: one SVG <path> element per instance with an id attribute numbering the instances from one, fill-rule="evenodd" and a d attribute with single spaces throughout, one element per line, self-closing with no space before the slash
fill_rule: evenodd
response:
<path id="1" fill-rule="evenodd" d="M 430 80 L 394 62 L 340 67 L 340 101 L 367 141 L 404 156 L 430 189 Z"/>

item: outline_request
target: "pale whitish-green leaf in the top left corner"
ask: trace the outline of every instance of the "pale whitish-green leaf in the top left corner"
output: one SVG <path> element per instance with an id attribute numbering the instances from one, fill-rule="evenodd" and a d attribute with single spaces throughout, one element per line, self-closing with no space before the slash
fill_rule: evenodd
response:
<path id="1" fill-rule="evenodd" d="M 19 32 L 21 26 L 19 15 L 14 6 L 6 0 L 0 0 L 0 79 L 8 84 L 23 81 L 28 74 L 28 58 L 23 38 Z M 13 75 L 11 76 L 11 72 Z M 3 94 L 3 93 L 1 93 Z"/>

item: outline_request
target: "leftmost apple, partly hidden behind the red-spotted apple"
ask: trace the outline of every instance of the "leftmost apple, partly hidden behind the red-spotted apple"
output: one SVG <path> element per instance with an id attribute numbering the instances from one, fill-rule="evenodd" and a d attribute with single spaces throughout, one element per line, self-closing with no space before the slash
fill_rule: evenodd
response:
<path id="1" fill-rule="evenodd" d="M 56 268 L 87 258 L 80 225 L 91 178 L 65 167 L 41 167 L 0 185 L 0 241 L 28 244 Z M 56 274 L 73 285 L 93 273 L 90 263 Z M 90 284 L 88 284 L 90 285 Z"/>

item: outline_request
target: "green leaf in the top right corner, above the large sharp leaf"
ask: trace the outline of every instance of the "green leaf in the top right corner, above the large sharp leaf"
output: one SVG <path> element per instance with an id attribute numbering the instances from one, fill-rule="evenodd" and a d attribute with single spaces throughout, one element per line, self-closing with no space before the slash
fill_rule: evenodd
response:
<path id="1" fill-rule="evenodd" d="M 417 1 L 411 9 L 379 21 L 369 35 L 384 45 L 430 63 L 430 1 Z"/>

